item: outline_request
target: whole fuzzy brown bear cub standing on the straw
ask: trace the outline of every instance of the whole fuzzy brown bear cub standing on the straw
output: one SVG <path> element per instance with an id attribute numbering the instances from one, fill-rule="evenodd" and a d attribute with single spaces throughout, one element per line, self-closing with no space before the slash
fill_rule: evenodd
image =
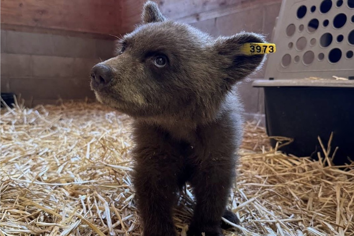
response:
<path id="1" fill-rule="evenodd" d="M 189 182 L 196 198 L 188 235 L 221 236 L 242 140 L 241 104 L 234 85 L 264 55 L 245 56 L 239 33 L 213 38 L 144 5 L 142 24 L 120 40 L 118 55 L 92 68 L 97 99 L 133 117 L 133 184 L 144 236 L 175 236 L 177 193 Z M 223 227 L 224 228 L 224 227 Z"/>

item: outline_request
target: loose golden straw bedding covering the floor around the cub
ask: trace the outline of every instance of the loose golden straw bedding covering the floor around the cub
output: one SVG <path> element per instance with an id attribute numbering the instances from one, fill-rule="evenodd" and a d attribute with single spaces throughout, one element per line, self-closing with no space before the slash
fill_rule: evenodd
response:
<path id="1" fill-rule="evenodd" d="M 141 235 L 130 122 L 96 103 L 2 109 L 1 236 Z M 270 148 L 264 128 L 245 126 L 229 201 L 241 224 L 224 234 L 354 235 L 354 165 L 325 165 L 323 153 L 320 161 L 286 156 Z M 187 186 L 174 216 L 178 235 L 192 206 Z"/>

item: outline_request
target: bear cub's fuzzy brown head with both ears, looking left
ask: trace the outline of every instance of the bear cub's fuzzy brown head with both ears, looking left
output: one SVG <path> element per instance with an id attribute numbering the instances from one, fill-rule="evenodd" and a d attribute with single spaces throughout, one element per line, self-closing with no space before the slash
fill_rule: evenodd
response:
<path id="1" fill-rule="evenodd" d="M 242 44 L 265 42 L 255 33 L 214 38 L 175 22 L 155 2 L 142 23 L 118 43 L 117 54 L 91 70 L 99 102 L 138 119 L 216 119 L 234 85 L 260 67 L 264 55 L 245 56 Z"/>

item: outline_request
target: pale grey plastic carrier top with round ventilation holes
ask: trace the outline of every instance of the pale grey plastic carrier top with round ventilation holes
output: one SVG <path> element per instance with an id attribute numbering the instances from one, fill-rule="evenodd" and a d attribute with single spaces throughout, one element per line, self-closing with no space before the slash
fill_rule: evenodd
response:
<path id="1" fill-rule="evenodd" d="M 265 79 L 354 76 L 354 0 L 283 0 L 272 38 Z"/>

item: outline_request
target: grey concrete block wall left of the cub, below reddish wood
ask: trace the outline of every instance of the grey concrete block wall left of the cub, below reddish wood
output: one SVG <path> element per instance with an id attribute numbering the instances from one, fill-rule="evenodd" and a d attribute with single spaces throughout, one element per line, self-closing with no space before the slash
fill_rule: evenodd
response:
<path id="1" fill-rule="evenodd" d="M 114 40 L 81 33 L 0 31 L 1 92 L 21 94 L 28 106 L 94 99 L 90 69 L 115 47 Z"/>

